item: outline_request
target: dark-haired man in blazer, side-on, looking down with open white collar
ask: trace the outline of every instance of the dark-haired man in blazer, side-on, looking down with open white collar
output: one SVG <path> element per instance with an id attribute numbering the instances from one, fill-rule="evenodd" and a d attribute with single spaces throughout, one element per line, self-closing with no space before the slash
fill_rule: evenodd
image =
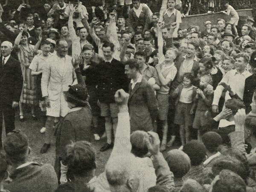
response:
<path id="1" fill-rule="evenodd" d="M 131 132 L 137 130 L 148 132 L 153 130 L 158 102 L 153 86 L 139 71 L 139 64 L 134 59 L 125 62 L 125 74 L 131 79 L 128 101 Z"/>

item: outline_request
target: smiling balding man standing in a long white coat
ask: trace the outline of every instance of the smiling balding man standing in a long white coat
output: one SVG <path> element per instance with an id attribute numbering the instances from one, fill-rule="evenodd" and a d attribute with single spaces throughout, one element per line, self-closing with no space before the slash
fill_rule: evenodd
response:
<path id="1" fill-rule="evenodd" d="M 64 117 L 68 113 L 67 101 L 63 92 L 69 89 L 69 85 L 76 80 L 72 65 L 72 57 L 67 55 L 67 41 L 56 41 L 56 53 L 49 57 L 44 65 L 41 79 L 42 97 L 47 106 L 47 120 L 45 123 L 45 143 L 41 153 L 47 152 L 53 135 L 55 117 Z"/>

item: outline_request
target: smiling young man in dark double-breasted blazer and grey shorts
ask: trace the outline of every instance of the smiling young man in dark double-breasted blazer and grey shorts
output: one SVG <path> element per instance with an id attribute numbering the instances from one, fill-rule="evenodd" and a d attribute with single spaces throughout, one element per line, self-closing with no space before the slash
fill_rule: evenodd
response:
<path id="1" fill-rule="evenodd" d="M 113 58 L 113 43 L 104 43 L 102 46 L 104 61 L 93 67 L 97 75 L 97 88 L 99 93 L 99 106 L 101 116 L 105 117 L 105 128 L 107 143 L 100 149 L 106 151 L 113 146 L 111 142 L 112 129 L 114 134 L 117 126 L 117 106 L 115 103 L 115 93 L 118 89 L 128 91 L 128 79 L 125 76 L 124 65 Z"/>

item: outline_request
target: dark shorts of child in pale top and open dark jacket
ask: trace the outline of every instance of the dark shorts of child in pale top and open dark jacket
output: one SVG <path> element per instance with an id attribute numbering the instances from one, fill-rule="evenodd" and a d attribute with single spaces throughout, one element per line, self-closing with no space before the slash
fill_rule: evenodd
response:
<path id="1" fill-rule="evenodd" d="M 174 123 L 178 125 L 192 126 L 194 116 L 190 114 L 191 109 L 192 103 L 179 102 L 175 111 Z"/>

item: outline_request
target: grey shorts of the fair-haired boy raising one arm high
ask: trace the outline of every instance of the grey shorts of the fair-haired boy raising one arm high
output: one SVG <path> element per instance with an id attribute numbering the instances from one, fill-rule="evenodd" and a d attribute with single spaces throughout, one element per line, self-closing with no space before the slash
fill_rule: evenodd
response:
<path id="1" fill-rule="evenodd" d="M 158 118 L 159 120 L 167 120 L 169 109 L 169 94 L 157 93 L 158 101 Z"/>

